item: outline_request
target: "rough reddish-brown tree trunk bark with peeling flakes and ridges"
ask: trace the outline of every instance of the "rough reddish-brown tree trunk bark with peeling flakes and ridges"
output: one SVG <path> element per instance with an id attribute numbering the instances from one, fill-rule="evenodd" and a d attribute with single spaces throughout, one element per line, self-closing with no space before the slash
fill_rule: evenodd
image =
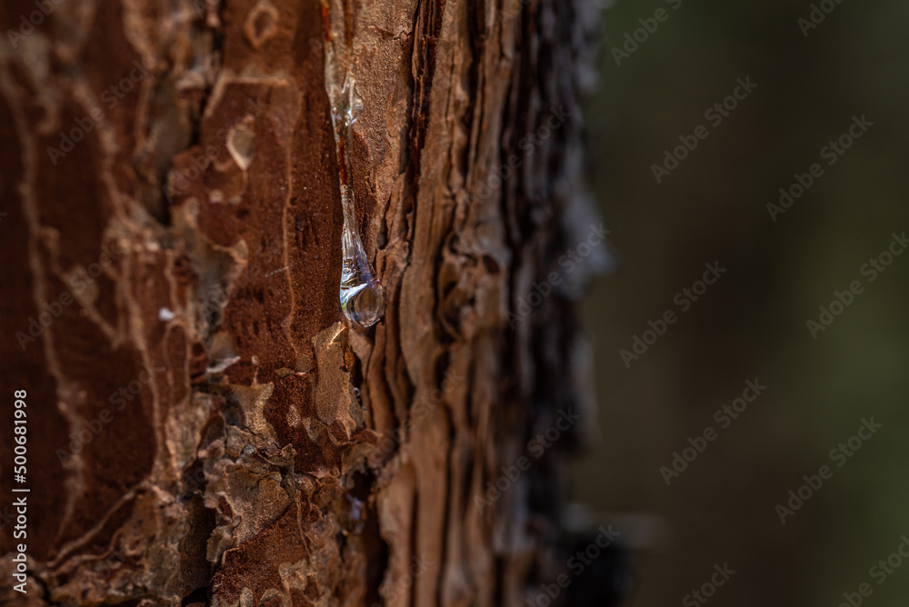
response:
<path id="1" fill-rule="evenodd" d="M 51 5 L 0 57 L 0 348 L 32 487 L 28 594 L 5 515 L 0 602 L 523 605 L 558 572 L 564 456 L 594 427 L 572 302 L 596 253 L 529 296 L 598 224 L 597 6 L 354 4 L 355 193 L 387 296 L 364 333 L 338 305 L 320 5 Z M 3 30 L 33 11 L 6 2 Z"/>

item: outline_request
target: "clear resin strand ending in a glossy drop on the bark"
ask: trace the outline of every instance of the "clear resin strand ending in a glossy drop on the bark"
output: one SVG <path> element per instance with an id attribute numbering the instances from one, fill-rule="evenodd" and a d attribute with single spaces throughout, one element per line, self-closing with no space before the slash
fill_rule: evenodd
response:
<path id="1" fill-rule="evenodd" d="M 334 3 L 333 3 L 334 5 Z M 354 123 L 363 112 L 363 99 L 356 91 L 351 70 L 351 48 L 340 47 L 337 28 L 343 19 L 336 19 L 335 6 L 326 5 L 323 18 L 325 26 L 325 89 L 332 108 L 332 125 L 335 127 L 338 178 L 341 182 L 341 208 L 344 212 L 344 229 L 341 233 L 341 311 L 351 324 L 365 328 L 374 325 L 385 311 L 385 291 L 375 270 L 366 257 L 363 242 L 356 229 L 354 205 Z M 326 15 L 327 13 L 327 15 Z M 340 12 L 344 15 L 344 12 Z M 344 31 L 350 31 L 345 28 Z M 348 45 L 351 36 L 345 36 Z"/>

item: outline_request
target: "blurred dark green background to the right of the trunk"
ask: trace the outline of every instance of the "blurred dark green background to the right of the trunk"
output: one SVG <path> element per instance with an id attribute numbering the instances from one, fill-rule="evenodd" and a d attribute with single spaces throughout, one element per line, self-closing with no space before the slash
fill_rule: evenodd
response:
<path id="1" fill-rule="evenodd" d="M 807 36 L 810 2 L 604 11 L 586 121 L 622 265 L 584 301 L 600 439 L 573 486 L 607 517 L 651 517 L 654 537 L 632 538 L 635 606 L 682 604 L 724 563 L 735 574 L 710 604 L 834 607 L 864 582 L 863 604 L 909 601 L 909 559 L 883 584 L 869 575 L 909 536 L 909 253 L 874 283 L 860 273 L 909 231 L 909 4 L 831 5 Z M 613 48 L 659 8 L 665 21 L 616 65 Z M 749 76 L 722 124 L 704 118 Z M 874 125 L 826 164 L 821 148 L 863 114 Z M 699 124 L 709 136 L 657 184 L 652 164 Z M 766 205 L 814 163 L 823 176 L 774 222 Z M 675 294 L 714 261 L 728 271 L 682 313 Z M 864 293 L 814 339 L 806 322 L 855 280 Z M 626 368 L 619 351 L 666 310 L 678 321 Z M 766 392 L 722 429 L 714 411 L 754 378 Z M 831 450 L 872 416 L 883 428 L 836 467 Z M 716 440 L 667 486 L 660 467 L 706 426 Z M 781 523 L 776 504 L 824 464 L 833 478 Z"/>

